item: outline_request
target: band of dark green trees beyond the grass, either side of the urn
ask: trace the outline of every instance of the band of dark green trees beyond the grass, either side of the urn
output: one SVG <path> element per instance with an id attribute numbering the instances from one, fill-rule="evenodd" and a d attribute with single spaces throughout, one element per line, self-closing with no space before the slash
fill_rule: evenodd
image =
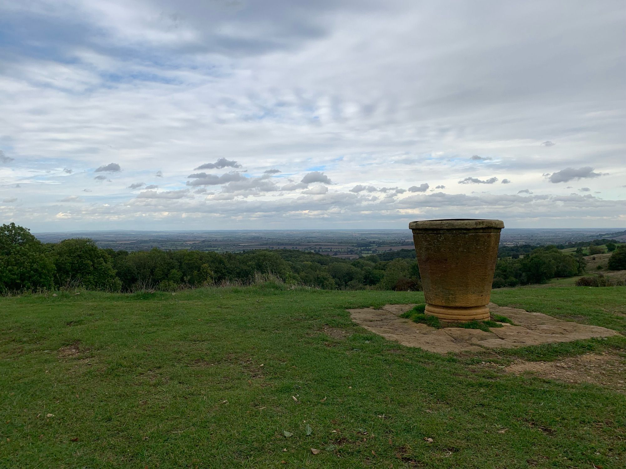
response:
<path id="1" fill-rule="evenodd" d="M 588 245 L 588 243 L 586 244 Z M 387 251 L 357 260 L 299 250 L 244 253 L 210 251 L 113 251 L 78 238 L 43 244 L 14 223 L 0 227 L 0 292 L 86 288 L 164 290 L 203 285 L 280 281 L 314 288 L 421 290 L 415 251 Z M 582 253 L 536 247 L 523 258 L 498 260 L 493 285 L 541 283 L 584 271 Z"/>

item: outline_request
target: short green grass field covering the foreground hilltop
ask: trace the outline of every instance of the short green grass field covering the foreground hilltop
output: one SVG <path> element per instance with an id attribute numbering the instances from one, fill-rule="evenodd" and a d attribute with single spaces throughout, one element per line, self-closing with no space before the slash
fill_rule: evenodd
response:
<path id="1" fill-rule="evenodd" d="M 626 333 L 626 287 L 492 300 Z M 501 369 L 623 359 L 623 336 L 442 356 L 346 312 L 421 302 L 272 285 L 0 298 L 0 467 L 626 466 L 626 395 Z"/>

